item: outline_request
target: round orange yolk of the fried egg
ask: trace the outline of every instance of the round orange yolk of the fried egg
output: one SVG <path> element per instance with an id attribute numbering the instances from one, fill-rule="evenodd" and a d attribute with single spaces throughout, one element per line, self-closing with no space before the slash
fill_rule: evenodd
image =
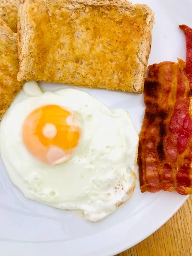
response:
<path id="1" fill-rule="evenodd" d="M 29 152 L 44 163 L 69 160 L 78 145 L 81 128 L 74 113 L 57 105 L 37 108 L 23 124 L 23 142 Z"/>

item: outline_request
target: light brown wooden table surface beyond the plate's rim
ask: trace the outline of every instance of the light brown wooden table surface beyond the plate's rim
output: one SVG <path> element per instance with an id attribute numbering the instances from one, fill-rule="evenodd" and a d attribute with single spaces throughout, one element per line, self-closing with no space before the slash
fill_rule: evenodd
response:
<path id="1" fill-rule="evenodd" d="M 192 256 L 192 196 L 163 227 L 118 256 Z"/>

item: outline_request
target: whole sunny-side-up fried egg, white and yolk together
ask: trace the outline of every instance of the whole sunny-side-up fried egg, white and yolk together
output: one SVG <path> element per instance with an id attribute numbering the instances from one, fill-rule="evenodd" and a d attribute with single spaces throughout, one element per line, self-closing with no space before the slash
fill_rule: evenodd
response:
<path id="1" fill-rule="evenodd" d="M 27 82 L 0 123 L 0 153 L 26 198 L 99 221 L 130 198 L 138 134 L 129 114 L 73 88 Z"/>

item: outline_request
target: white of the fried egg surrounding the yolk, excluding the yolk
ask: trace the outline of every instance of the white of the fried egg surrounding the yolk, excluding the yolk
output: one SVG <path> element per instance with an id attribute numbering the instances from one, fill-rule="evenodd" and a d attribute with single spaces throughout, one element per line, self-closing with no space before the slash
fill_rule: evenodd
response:
<path id="1" fill-rule="evenodd" d="M 22 140 L 26 116 L 51 104 L 74 111 L 83 131 L 73 157 L 57 166 L 37 160 Z M 127 111 L 110 110 L 73 88 L 42 93 L 32 81 L 0 123 L 0 154 L 12 182 L 27 198 L 59 209 L 81 209 L 89 221 L 105 218 L 131 196 L 138 140 Z"/>

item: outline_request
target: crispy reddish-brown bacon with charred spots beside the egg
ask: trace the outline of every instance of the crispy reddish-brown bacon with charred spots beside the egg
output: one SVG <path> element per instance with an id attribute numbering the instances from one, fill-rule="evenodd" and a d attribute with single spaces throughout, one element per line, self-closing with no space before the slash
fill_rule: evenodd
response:
<path id="1" fill-rule="evenodd" d="M 192 29 L 180 29 L 186 36 L 186 63 L 178 59 L 148 67 L 138 152 L 141 192 L 192 194 Z"/>

